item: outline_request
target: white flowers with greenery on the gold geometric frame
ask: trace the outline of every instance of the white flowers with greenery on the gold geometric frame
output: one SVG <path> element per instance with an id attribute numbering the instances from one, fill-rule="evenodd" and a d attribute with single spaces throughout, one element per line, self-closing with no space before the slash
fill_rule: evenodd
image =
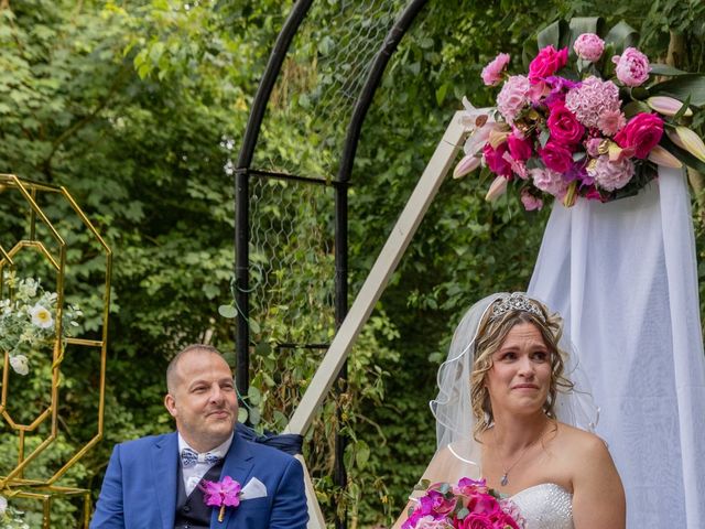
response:
<path id="1" fill-rule="evenodd" d="M 33 278 L 18 279 L 3 272 L 2 283 L 9 295 L 0 299 L 0 350 L 10 355 L 10 366 L 19 375 L 30 370 L 32 352 L 53 343 L 56 337 L 56 292 L 45 291 Z M 62 315 L 62 337 L 70 336 L 83 312 L 66 305 Z"/>

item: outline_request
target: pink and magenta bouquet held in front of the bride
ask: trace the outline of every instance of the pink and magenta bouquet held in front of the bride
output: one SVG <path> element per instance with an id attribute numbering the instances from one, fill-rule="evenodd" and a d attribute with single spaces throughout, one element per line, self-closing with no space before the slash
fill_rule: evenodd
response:
<path id="1" fill-rule="evenodd" d="M 525 521 L 509 499 L 485 479 L 462 478 L 457 485 L 422 482 L 425 494 L 409 511 L 402 529 L 523 529 Z"/>

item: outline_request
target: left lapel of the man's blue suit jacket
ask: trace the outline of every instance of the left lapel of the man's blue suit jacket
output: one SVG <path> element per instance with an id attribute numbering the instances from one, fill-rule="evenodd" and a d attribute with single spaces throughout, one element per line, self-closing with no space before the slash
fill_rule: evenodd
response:
<path id="1" fill-rule="evenodd" d="M 177 456 L 178 436 L 175 432 L 159 438 L 151 449 L 152 479 L 164 529 L 174 529 Z"/>

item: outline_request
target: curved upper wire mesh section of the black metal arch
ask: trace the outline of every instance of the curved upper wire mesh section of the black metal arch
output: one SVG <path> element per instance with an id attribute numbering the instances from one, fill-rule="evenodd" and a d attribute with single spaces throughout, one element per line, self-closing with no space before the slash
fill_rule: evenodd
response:
<path id="1" fill-rule="evenodd" d="M 404 3 L 314 1 L 274 86 L 252 166 L 335 176 L 360 89 Z"/>

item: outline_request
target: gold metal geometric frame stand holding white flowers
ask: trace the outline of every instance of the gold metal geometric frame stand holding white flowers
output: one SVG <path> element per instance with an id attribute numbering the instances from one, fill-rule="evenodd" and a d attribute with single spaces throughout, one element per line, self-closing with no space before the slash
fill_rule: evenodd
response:
<path id="1" fill-rule="evenodd" d="M 47 185 L 39 182 L 21 180 L 12 174 L 0 174 L 0 201 L 3 193 L 15 193 L 21 198 L 19 201 L 21 207 L 26 212 L 28 226 L 24 235 L 15 240 L 11 248 L 4 248 L 0 244 L 0 296 L 3 295 L 4 285 L 2 284 L 2 272 L 6 268 L 13 269 L 15 260 L 21 252 L 36 251 L 51 270 L 56 272 L 56 306 L 55 309 L 55 336 L 52 344 L 52 363 L 51 363 L 51 397 L 48 406 L 41 411 L 39 417 L 34 418 L 29 424 L 22 424 L 15 421 L 9 410 L 8 402 L 10 395 L 9 388 L 9 353 L 4 352 L 4 361 L 2 366 L 1 391 L 0 391 L 0 421 L 4 421 L 11 431 L 18 432 L 18 461 L 17 465 L 11 468 L 7 475 L 0 476 L 0 493 L 8 497 L 33 498 L 43 503 L 44 523 L 43 527 L 50 527 L 50 509 L 53 498 L 57 496 L 72 497 L 80 496 L 84 498 L 84 505 L 89 505 L 89 492 L 80 488 L 61 487 L 54 485 L 83 455 L 90 450 L 100 439 L 104 432 L 104 411 L 105 411 L 105 384 L 106 384 L 106 354 L 107 354 L 107 336 L 108 336 L 108 312 L 110 303 L 110 280 L 112 271 L 112 252 L 102 237 L 95 229 L 88 217 L 74 201 L 68 191 L 63 186 Z M 79 225 L 89 234 L 93 244 L 100 248 L 105 256 L 105 284 L 102 289 L 102 313 L 100 315 L 100 339 L 87 339 L 82 337 L 67 337 L 62 343 L 62 313 L 65 306 L 65 273 L 66 273 L 66 255 L 68 246 L 66 237 L 62 237 L 61 223 L 50 220 L 46 213 L 40 207 L 40 198 L 42 195 L 51 195 L 53 199 L 62 199 L 68 203 L 75 216 L 79 219 Z M 40 235 L 42 231 L 42 235 Z M 45 240 L 41 240 L 41 237 Z M 68 345 L 78 347 L 95 348 L 99 352 L 99 377 L 98 377 L 98 406 L 97 406 L 97 428 L 95 434 L 84 443 L 76 453 L 66 461 L 65 464 L 51 468 L 53 474 L 48 478 L 28 479 L 24 473 L 28 471 L 36 457 L 46 450 L 57 438 L 58 432 L 58 404 L 59 404 L 59 387 L 61 387 L 61 369 L 64 360 L 64 354 Z M 34 432 L 36 429 L 51 419 L 48 436 L 44 439 L 31 453 L 25 454 L 25 434 Z M 88 525 L 88 507 L 84 507 L 84 526 Z"/>

